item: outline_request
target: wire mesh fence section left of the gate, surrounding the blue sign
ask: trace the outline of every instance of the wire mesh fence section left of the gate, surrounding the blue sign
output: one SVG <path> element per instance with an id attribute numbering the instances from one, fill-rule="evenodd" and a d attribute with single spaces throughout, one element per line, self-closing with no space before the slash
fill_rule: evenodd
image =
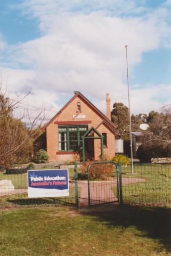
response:
<path id="1" fill-rule="evenodd" d="M 28 170 L 68 169 L 69 196 L 49 198 L 28 198 Z M 76 205 L 76 185 L 74 165 L 38 164 L 31 166 L 17 166 L 7 170 L 0 170 L 0 206 L 8 203 L 17 205 L 32 204 L 68 204 Z"/>

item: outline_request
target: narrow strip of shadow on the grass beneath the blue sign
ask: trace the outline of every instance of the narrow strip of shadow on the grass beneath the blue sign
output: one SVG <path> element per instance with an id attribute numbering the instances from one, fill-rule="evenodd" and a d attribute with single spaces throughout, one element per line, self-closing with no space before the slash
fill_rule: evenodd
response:
<path id="1" fill-rule="evenodd" d="M 23 198 L 23 199 L 7 199 L 9 203 L 17 204 L 17 205 L 46 205 L 46 204 L 58 204 L 58 205 L 75 205 L 72 202 L 67 202 L 62 199 L 56 198 Z"/>

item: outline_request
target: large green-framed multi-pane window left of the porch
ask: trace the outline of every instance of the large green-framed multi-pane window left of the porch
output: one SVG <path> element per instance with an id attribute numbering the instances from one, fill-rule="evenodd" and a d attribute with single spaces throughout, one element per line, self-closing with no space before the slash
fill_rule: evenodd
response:
<path id="1" fill-rule="evenodd" d="M 87 126 L 59 126 L 59 150 L 75 151 L 82 145 Z"/>

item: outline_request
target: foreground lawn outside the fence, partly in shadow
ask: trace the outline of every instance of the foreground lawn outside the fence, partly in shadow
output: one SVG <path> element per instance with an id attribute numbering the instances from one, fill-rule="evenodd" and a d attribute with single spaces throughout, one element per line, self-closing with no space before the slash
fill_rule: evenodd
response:
<path id="1" fill-rule="evenodd" d="M 170 209 L 39 207 L 0 212 L 0 255 L 171 255 Z"/>

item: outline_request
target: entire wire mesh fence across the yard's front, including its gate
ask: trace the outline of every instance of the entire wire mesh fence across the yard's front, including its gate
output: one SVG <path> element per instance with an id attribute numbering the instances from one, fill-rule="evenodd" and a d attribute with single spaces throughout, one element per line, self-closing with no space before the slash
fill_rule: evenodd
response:
<path id="1" fill-rule="evenodd" d="M 86 166 L 88 167 L 89 164 L 87 163 Z M 80 206 L 88 206 L 88 201 L 92 206 L 119 201 L 120 196 L 124 204 L 171 204 L 171 164 L 135 164 L 133 174 L 131 166 L 121 166 L 120 180 L 116 166 L 94 164 L 89 169 L 89 195 L 88 177 L 83 175 L 83 171 L 81 173 L 80 166 L 78 167 L 78 180 L 74 165 L 29 166 L 29 170 L 69 170 L 69 196 L 49 198 L 28 198 L 28 166 L 0 170 L 0 208 L 2 205 L 11 203 L 13 205 L 67 204 L 76 206 L 79 203 Z M 87 172 L 87 167 L 85 172 Z"/>

